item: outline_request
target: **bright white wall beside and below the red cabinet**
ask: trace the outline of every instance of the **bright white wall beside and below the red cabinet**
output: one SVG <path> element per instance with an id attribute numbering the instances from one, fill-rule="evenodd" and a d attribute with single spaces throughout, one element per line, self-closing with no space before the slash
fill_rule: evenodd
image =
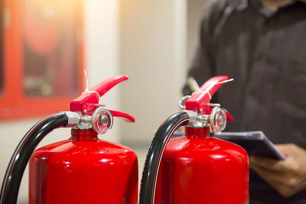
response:
<path id="1" fill-rule="evenodd" d="M 85 2 L 85 37 L 86 37 L 86 69 L 89 86 L 119 74 L 118 55 L 118 1 L 89 0 Z M 103 96 L 101 103 L 109 105 L 110 109 L 119 109 L 119 89 L 114 88 Z M 0 123 L 0 181 L 2 183 L 7 164 L 14 149 L 25 133 L 40 118 L 30 120 L 14 120 Z M 115 121 L 116 122 L 116 121 Z M 114 123 L 113 129 L 100 136 L 101 139 L 119 141 L 119 124 Z M 68 139 L 70 129 L 59 129 L 50 133 L 39 146 Z M 19 190 L 18 203 L 27 203 L 28 198 L 28 168 L 24 172 Z"/>

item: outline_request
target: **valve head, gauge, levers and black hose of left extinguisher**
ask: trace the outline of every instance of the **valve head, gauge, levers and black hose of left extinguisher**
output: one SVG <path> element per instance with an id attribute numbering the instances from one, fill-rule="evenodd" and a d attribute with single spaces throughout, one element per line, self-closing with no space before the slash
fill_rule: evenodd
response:
<path id="1" fill-rule="evenodd" d="M 59 127 L 72 127 L 75 130 L 94 130 L 98 134 L 105 134 L 113 125 L 113 117 L 134 122 L 135 119 L 129 114 L 107 110 L 105 105 L 98 104 L 102 95 L 127 79 L 126 76 L 119 76 L 107 79 L 91 89 L 87 87 L 81 96 L 71 101 L 69 112 L 50 115 L 36 123 L 14 151 L 3 180 L 0 204 L 17 202 L 24 169 L 39 142 L 49 132 Z"/>

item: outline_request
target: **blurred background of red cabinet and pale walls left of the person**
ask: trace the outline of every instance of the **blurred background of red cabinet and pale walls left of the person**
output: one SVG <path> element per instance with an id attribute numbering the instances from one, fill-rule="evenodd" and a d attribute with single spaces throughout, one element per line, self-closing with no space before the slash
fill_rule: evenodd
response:
<path id="1" fill-rule="evenodd" d="M 100 100 L 130 113 L 100 139 L 133 148 L 142 171 L 159 125 L 179 110 L 205 0 L 5 0 L 0 28 L 0 178 L 17 144 L 41 118 L 69 110 L 85 89 L 119 74 L 130 79 Z M 50 133 L 40 146 L 68 139 Z M 141 175 L 141 173 L 139 173 Z M 27 203 L 28 170 L 18 203 Z"/>

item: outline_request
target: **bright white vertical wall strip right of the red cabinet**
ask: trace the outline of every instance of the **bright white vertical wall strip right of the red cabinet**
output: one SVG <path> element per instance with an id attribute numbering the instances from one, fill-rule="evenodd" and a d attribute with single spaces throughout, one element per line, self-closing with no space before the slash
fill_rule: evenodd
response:
<path id="1" fill-rule="evenodd" d="M 119 2 L 117 0 L 89 0 L 85 2 L 86 68 L 89 86 L 121 75 L 119 70 Z M 111 110 L 120 110 L 120 86 L 118 84 L 100 98 Z M 118 142 L 119 123 L 114 119 L 113 129 L 101 139 Z"/>

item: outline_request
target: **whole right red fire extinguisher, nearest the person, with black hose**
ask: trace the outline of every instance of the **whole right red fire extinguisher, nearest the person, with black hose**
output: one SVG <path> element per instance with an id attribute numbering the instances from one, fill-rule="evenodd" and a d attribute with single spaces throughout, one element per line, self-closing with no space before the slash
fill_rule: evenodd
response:
<path id="1" fill-rule="evenodd" d="M 142 175 L 140 204 L 248 203 L 249 166 L 246 151 L 210 136 L 223 131 L 233 117 L 210 99 L 228 81 L 211 78 L 180 100 L 183 111 L 171 115 L 157 130 Z M 170 139 L 185 125 L 183 137 Z"/>

